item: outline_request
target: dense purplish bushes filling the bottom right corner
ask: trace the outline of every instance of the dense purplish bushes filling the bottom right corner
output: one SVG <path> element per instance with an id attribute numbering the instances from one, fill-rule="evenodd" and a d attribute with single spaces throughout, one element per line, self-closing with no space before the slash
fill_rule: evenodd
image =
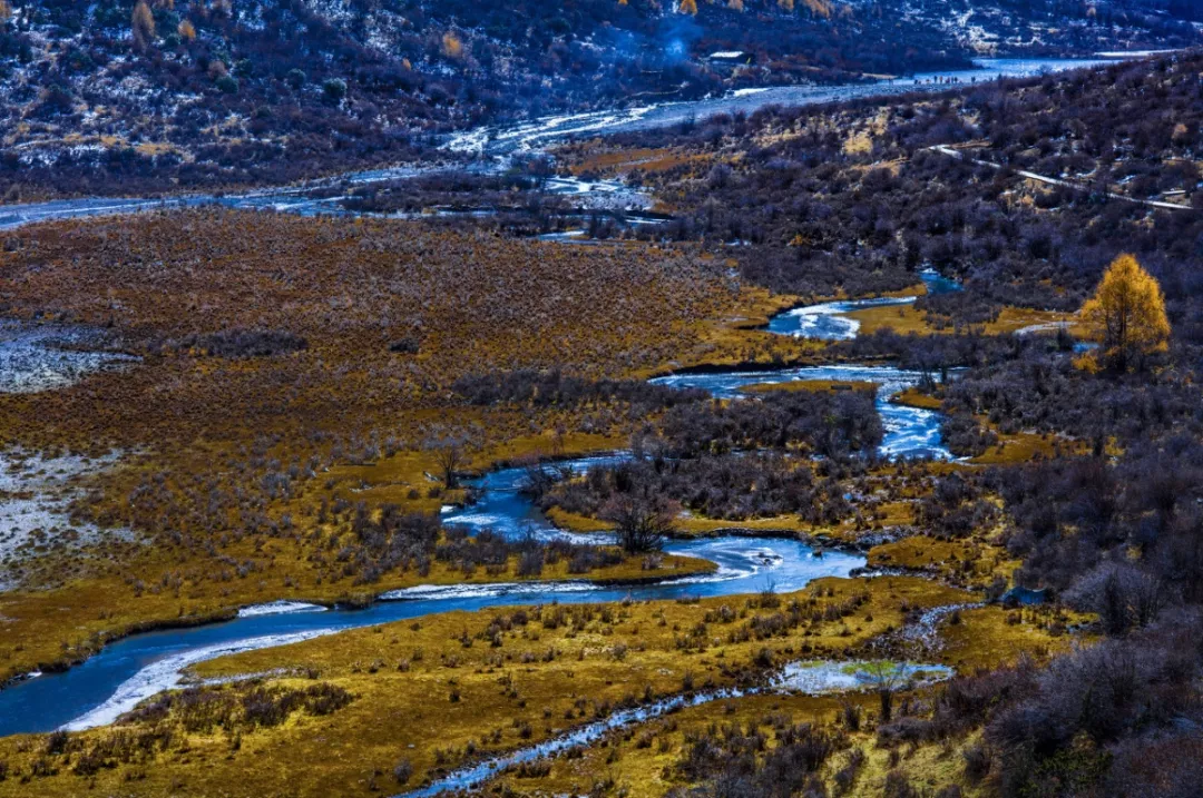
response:
<path id="1" fill-rule="evenodd" d="M 1193 796 L 1203 721 L 1193 684 L 1203 654 L 1197 611 L 1174 612 L 1122 639 L 1053 660 L 960 677 L 926 716 L 878 728 L 887 745 L 964 740 L 962 772 L 1003 798 Z"/>

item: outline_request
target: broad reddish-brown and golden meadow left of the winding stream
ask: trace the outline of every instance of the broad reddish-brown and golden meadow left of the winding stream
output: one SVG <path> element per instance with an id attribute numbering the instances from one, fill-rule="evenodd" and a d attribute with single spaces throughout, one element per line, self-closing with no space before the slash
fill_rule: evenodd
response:
<path id="1" fill-rule="evenodd" d="M 143 358 L 0 397 L 6 446 L 124 452 L 76 510 L 140 536 L 25 566 L 24 590 L 0 597 L 0 679 L 78 659 L 101 633 L 387 589 L 313 566 L 337 531 L 315 507 L 429 512 L 455 499 L 427 476 L 431 437 L 468 441 L 464 468 L 480 469 L 615 448 L 629 431 L 621 407 L 464 406 L 451 391 L 461 376 L 639 376 L 800 351 L 747 329 L 787 299 L 733 285 L 723 262 L 689 248 L 198 210 L 25 228 L 0 258 L 7 312 L 109 330 Z M 209 357 L 192 338 L 229 330 L 286 332 L 307 347 Z M 401 339 L 417 352 L 391 351 Z M 284 489 L 265 489 L 282 475 Z"/>

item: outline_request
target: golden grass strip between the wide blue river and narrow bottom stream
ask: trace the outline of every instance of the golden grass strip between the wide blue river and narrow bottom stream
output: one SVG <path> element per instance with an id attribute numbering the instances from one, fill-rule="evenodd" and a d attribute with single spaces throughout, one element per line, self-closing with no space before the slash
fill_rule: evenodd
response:
<path id="1" fill-rule="evenodd" d="M 97 794 L 360 794 L 390 788 L 387 774 L 401 758 L 410 761 L 417 784 L 474 751 L 545 739 L 604 715 L 606 707 L 691 685 L 736 684 L 754 656 L 784 662 L 853 655 L 901 627 L 908 611 L 970 597 L 909 577 L 826 578 L 770 598 L 544 606 L 522 611 L 526 623 L 517 611 L 498 609 L 351 630 L 195 668 L 203 678 L 266 673 L 268 685 L 332 684 L 356 696 L 338 711 L 298 713 L 280 726 L 248 729 L 237 750 L 225 734 L 188 732 L 172 716 L 82 732 L 71 736 L 77 754 L 49 757 L 57 775 L 25 784 L 17 774 L 47 758 L 46 738 L 6 738 L 0 760 L 11 770 L 0 794 L 75 794 L 88 785 Z M 768 629 L 764 620 L 784 617 L 795 600 L 796 626 L 746 631 Z M 83 751 L 154 723 L 174 723 L 167 750 L 115 761 L 88 778 L 72 773 Z"/>

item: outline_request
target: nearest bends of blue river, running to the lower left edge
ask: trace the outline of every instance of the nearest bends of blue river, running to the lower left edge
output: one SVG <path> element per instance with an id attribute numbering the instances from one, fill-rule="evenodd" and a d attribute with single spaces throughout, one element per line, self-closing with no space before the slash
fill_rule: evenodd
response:
<path id="1" fill-rule="evenodd" d="M 599 458 L 582 458 L 585 469 Z M 522 469 L 503 469 L 476 481 L 482 500 L 444 514 L 445 524 L 493 529 L 508 536 L 565 535 L 555 530 L 520 493 Z M 632 598 L 677 598 L 749 594 L 771 584 L 798 590 L 812 579 L 847 576 L 865 564 L 863 556 L 829 550 L 818 555 L 801 541 L 724 536 L 672 541 L 670 554 L 700 556 L 718 565 L 713 574 L 657 584 L 599 586 L 587 582 L 458 584 L 384 594 L 366 609 L 326 609 L 308 605 L 251 608 L 238 618 L 192 629 L 135 635 L 105 647 L 83 663 L 55 674 L 26 679 L 0 691 L 0 736 L 84 728 L 112 722 L 138 701 L 179 685 L 179 671 L 190 663 L 269 645 L 282 645 L 338 630 L 369 626 L 432 613 L 476 611 L 496 606 L 600 602 Z M 650 572 L 648 576 L 657 576 Z M 290 612 L 285 612 L 289 609 Z"/>

